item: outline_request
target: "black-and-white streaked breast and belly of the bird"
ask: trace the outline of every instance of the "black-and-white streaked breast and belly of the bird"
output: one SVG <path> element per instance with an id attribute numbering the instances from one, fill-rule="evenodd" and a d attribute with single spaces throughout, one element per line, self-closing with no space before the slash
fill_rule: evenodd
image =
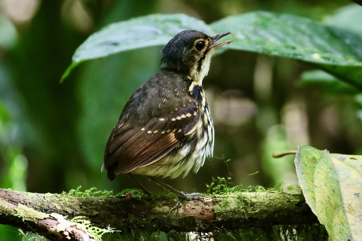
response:
<path id="1" fill-rule="evenodd" d="M 186 86 L 186 89 L 184 88 L 185 86 L 181 89 L 189 92 L 189 95 L 187 95 L 187 103 L 194 106 L 185 106 L 181 109 L 177 109 L 176 113 L 167 116 L 167 118 L 157 119 L 157 123 L 166 121 L 167 119 L 169 120 L 169 123 L 174 124 L 177 123 L 177 121 L 181 122 L 182 120 L 186 120 L 188 117 L 194 117 L 194 120 L 198 120 L 195 128 L 192 128 L 192 130 L 188 130 L 185 133 L 182 132 L 183 129 L 181 129 L 181 132 L 175 132 L 176 135 L 183 133 L 183 138 L 180 138 L 180 142 L 168 155 L 151 165 L 135 169 L 133 173 L 171 178 L 180 175 L 186 176 L 190 171 L 196 173 L 204 164 L 205 159 L 208 156 L 212 156 L 212 150 L 214 148 L 214 126 L 210 115 L 209 105 L 206 101 L 205 91 L 202 86 L 198 85 L 196 82 L 191 82 Z M 180 91 L 181 93 L 181 89 L 172 89 L 172 91 Z M 179 96 L 180 94 L 177 98 L 181 98 Z M 166 103 L 167 101 L 168 100 L 166 100 Z M 182 115 L 181 112 L 184 110 L 183 108 L 190 108 L 193 111 L 192 113 L 188 112 Z M 190 122 L 190 125 L 193 123 L 195 123 L 195 121 Z M 168 133 L 169 130 L 167 130 L 166 133 Z M 148 129 L 144 128 L 144 131 L 148 131 Z M 152 130 L 149 132 L 155 133 L 152 132 Z M 159 132 L 163 134 L 164 129 L 160 129 Z"/>

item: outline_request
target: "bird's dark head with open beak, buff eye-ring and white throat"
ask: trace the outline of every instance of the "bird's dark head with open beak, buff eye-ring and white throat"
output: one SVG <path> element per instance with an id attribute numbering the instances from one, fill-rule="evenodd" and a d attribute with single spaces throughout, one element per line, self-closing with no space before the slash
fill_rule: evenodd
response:
<path id="1" fill-rule="evenodd" d="M 163 48 L 161 67 L 187 74 L 201 85 L 202 79 L 209 72 L 211 56 L 216 48 L 231 42 L 216 41 L 228 34 L 230 32 L 209 36 L 197 30 L 182 31 Z"/>

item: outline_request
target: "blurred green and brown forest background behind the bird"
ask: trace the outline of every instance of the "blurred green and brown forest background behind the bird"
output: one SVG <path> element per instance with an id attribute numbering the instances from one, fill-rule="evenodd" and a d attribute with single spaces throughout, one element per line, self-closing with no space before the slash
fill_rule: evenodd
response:
<path id="1" fill-rule="evenodd" d="M 122 52 L 81 64 L 62 83 L 75 49 L 109 23 L 152 13 L 185 13 L 206 23 L 266 10 L 328 22 L 348 0 L 0 0 L 0 187 L 60 193 L 137 186 L 101 173 L 105 143 L 127 99 L 159 68 L 162 47 Z M 355 5 L 355 8 L 361 6 Z M 353 27 L 353 26 L 352 26 Z M 227 29 L 225 29 L 227 31 Z M 311 145 L 361 154 L 361 106 L 352 95 L 326 94 L 299 79 L 313 66 L 226 51 L 204 79 L 215 124 L 214 158 L 197 174 L 165 182 L 206 191 L 212 177 L 233 184 L 297 184 L 294 157 L 273 151 Z M 228 162 L 226 162 L 229 160 Z M 160 191 L 140 177 L 151 191 Z M 1 226 L 1 237 L 16 239 Z M 0 240 L 1 240 L 0 237 Z"/>

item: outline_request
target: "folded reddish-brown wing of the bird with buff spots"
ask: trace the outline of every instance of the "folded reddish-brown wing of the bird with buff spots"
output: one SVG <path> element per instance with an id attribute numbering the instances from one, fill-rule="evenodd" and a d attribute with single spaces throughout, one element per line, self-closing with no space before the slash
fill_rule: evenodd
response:
<path id="1" fill-rule="evenodd" d="M 117 124 L 106 145 L 105 169 L 114 177 L 156 162 L 195 131 L 200 121 L 198 108 L 197 100 L 193 100 L 175 113 L 153 118 L 142 127 L 127 120 Z"/>

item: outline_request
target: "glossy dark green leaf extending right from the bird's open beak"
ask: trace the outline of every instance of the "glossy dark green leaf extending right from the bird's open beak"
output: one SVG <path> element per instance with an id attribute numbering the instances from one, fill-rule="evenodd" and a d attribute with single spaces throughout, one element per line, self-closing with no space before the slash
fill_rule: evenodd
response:
<path id="1" fill-rule="evenodd" d="M 362 89 L 362 38 L 289 14 L 252 12 L 211 23 L 234 40 L 226 48 L 309 62 Z"/>

